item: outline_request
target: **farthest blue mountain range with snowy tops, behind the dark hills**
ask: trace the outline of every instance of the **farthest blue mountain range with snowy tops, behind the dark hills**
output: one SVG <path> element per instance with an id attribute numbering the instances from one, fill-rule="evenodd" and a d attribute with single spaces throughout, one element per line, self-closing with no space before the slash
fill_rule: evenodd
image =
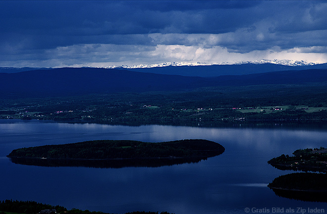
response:
<path id="1" fill-rule="evenodd" d="M 120 70 L 130 70 L 137 72 L 182 75 L 182 76 L 199 76 L 199 77 L 216 77 L 221 75 L 244 75 L 253 73 L 265 73 L 272 71 L 284 70 L 307 70 L 307 69 L 327 69 L 327 63 L 317 64 L 306 61 L 296 60 L 258 60 L 245 62 L 226 62 L 224 64 L 205 64 L 201 62 L 167 62 L 160 64 L 137 66 L 107 66 L 106 68 L 115 68 Z M 28 70 L 45 70 L 52 68 L 13 68 L 0 67 L 0 73 L 16 73 Z"/>

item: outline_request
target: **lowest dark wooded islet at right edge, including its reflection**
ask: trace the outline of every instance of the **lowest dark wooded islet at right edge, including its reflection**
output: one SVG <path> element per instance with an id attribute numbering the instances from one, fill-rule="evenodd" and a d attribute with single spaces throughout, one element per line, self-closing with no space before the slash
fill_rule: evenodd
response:
<path id="1" fill-rule="evenodd" d="M 311 201 L 327 202 L 327 174 L 291 173 L 275 178 L 268 185 L 280 197 Z"/>

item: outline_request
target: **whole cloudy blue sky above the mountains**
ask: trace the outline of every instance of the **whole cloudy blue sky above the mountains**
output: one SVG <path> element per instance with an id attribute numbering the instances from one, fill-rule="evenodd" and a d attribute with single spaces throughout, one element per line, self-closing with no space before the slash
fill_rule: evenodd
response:
<path id="1" fill-rule="evenodd" d="M 0 66 L 327 62 L 327 1 L 0 1 Z"/>

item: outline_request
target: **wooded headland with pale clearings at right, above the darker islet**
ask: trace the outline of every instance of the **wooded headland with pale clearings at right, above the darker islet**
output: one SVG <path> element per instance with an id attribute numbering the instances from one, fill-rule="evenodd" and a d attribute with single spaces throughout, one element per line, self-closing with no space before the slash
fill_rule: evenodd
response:
<path id="1" fill-rule="evenodd" d="M 327 149 L 299 149 L 293 155 L 281 155 L 268 163 L 281 170 L 327 172 Z"/>

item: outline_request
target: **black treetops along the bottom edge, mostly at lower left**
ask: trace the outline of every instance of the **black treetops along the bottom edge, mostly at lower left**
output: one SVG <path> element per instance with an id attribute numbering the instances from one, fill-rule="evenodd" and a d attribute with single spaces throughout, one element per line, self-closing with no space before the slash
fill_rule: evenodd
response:
<path id="1" fill-rule="evenodd" d="M 37 203 L 34 201 L 13 201 L 13 200 L 5 200 L 0 201 L 0 214 L 7 213 L 18 213 L 18 214 L 38 214 L 42 210 L 55 210 L 56 213 L 60 214 L 107 214 L 103 212 L 91 212 L 88 210 L 82 211 L 79 209 L 67 210 L 61 206 L 52 206 Z M 125 214 L 159 214 L 158 212 L 131 212 Z M 160 214 L 169 214 L 167 212 L 161 212 Z"/>

